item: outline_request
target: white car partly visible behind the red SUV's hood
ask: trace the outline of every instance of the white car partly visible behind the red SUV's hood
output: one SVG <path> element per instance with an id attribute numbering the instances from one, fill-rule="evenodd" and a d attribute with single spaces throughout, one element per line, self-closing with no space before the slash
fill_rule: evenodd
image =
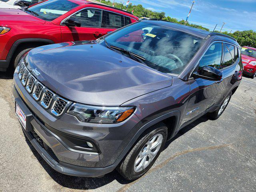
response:
<path id="1" fill-rule="evenodd" d="M 23 9 L 43 0 L 0 0 L 0 8 Z"/>

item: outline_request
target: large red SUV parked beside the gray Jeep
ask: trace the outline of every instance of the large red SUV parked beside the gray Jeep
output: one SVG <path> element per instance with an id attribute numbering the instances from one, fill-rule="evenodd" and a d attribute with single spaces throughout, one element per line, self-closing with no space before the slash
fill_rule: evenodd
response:
<path id="1" fill-rule="evenodd" d="M 32 48 L 59 42 L 95 40 L 138 18 L 84 0 L 47 0 L 25 10 L 0 9 L 0 71 L 16 67 Z"/>

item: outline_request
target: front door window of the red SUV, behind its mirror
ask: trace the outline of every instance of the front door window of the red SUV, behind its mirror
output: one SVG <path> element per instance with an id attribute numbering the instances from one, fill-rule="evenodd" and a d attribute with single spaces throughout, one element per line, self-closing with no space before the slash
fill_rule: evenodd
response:
<path id="1" fill-rule="evenodd" d="M 71 18 L 80 21 L 82 27 L 101 27 L 102 10 L 84 9 L 72 15 Z"/>

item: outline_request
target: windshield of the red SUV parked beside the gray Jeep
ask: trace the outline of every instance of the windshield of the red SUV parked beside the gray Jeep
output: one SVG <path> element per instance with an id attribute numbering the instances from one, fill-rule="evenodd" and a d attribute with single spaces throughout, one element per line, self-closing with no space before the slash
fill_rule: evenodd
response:
<path id="1" fill-rule="evenodd" d="M 34 16 L 43 20 L 52 21 L 77 6 L 79 5 L 69 0 L 48 0 L 46 2 L 28 8 L 28 10 L 32 11 L 32 13 L 28 13 L 33 14 Z M 38 15 L 34 14 L 33 12 Z"/>

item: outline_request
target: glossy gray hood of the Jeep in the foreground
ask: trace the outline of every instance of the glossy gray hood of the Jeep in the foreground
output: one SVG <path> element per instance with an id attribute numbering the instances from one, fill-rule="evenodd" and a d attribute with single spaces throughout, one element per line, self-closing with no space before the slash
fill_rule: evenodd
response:
<path id="1" fill-rule="evenodd" d="M 172 76 L 88 41 L 35 48 L 25 62 L 53 92 L 83 104 L 120 106 L 172 85 Z"/>

